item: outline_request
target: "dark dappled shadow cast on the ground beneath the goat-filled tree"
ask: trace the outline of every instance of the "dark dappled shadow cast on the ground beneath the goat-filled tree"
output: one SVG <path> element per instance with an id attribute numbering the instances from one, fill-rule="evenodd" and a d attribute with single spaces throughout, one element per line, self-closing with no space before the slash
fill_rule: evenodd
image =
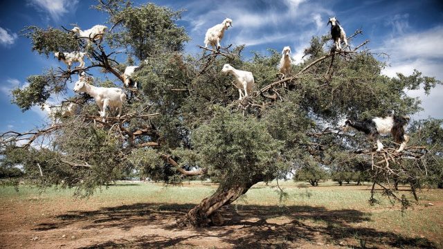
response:
<path id="1" fill-rule="evenodd" d="M 323 207 L 295 205 L 233 205 L 221 211 L 225 224 L 210 228 L 179 228 L 174 221 L 182 218 L 195 204 L 136 203 L 93 211 L 71 211 L 57 216 L 54 223 L 40 223 L 35 230 L 55 230 L 75 224 L 81 230 L 135 227 L 161 228 L 161 234 L 131 234 L 84 248 L 164 248 L 189 245 L 190 240 L 219 238 L 233 248 L 293 248 L 299 243 L 329 243 L 356 248 L 361 241 L 366 248 L 435 248 L 424 238 L 404 237 L 394 232 L 365 228 L 370 214 L 359 210 L 327 210 Z M 143 228 L 149 226 L 150 228 Z M 187 230 L 186 236 L 174 233 Z M 168 232 L 169 231 L 169 232 Z M 172 235 L 170 235 L 172 234 Z M 195 243 L 195 241 L 194 241 Z M 192 245 L 192 243 L 191 243 Z"/>

